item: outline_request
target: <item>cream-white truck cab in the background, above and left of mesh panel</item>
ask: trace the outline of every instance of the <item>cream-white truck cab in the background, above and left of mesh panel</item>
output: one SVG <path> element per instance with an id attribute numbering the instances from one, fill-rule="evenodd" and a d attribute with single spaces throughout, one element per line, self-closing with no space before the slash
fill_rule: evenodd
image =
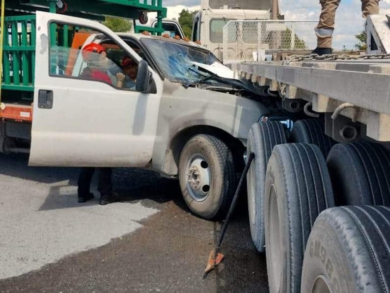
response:
<path id="1" fill-rule="evenodd" d="M 223 27 L 230 20 L 277 20 L 279 0 L 202 0 L 193 21 L 192 41 L 223 59 Z"/>

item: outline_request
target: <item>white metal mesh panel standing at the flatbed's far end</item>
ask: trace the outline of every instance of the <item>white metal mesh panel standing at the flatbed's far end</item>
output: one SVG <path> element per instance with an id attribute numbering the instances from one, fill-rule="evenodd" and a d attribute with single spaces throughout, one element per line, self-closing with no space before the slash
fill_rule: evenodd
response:
<path id="1" fill-rule="evenodd" d="M 316 21 L 230 21 L 223 27 L 223 61 L 253 60 L 258 50 L 306 51 L 316 47 Z"/>

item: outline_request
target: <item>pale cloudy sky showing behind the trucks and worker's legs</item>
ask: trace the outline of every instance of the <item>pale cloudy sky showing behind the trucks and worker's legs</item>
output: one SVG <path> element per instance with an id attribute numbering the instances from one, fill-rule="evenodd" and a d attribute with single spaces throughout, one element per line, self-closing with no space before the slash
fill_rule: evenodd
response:
<path id="1" fill-rule="evenodd" d="M 318 20 L 321 12 L 319 0 L 279 0 L 282 14 L 286 20 Z M 196 9 L 200 0 L 163 0 L 168 7 L 169 15 L 175 15 L 184 7 Z M 177 6 L 180 5 L 180 6 Z M 336 13 L 336 25 L 334 30 L 334 44 L 336 49 L 353 49 L 356 44 L 355 35 L 364 29 L 360 0 L 341 0 Z M 176 6 L 176 7 L 174 7 Z M 381 13 L 390 13 L 390 0 L 380 2 Z M 169 11 L 171 11 L 169 13 Z M 177 16 L 173 16 L 176 17 Z M 315 34 L 313 32 L 313 38 Z"/>

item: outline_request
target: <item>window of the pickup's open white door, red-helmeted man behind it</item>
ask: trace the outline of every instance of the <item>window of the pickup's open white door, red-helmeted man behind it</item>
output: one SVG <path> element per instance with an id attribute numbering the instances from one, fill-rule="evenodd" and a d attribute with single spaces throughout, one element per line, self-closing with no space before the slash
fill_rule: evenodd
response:
<path id="1" fill-rule="evenodd" d="M 138 62 L 108 36 L 86 27 L 59 23 L 51 23 L 50 29 L 51 76 L 100 81 L 135 90 Z"/>

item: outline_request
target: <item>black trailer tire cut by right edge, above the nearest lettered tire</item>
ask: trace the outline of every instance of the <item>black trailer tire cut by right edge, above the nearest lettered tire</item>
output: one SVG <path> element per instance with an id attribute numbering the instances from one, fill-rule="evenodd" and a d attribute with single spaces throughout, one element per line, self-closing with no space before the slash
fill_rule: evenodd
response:
<path id="1" fill-rule="evenodd" d="M 390 154 L 383 146 L 336 144 L 327 164 L 336 206 L 390 205 Z"/>

